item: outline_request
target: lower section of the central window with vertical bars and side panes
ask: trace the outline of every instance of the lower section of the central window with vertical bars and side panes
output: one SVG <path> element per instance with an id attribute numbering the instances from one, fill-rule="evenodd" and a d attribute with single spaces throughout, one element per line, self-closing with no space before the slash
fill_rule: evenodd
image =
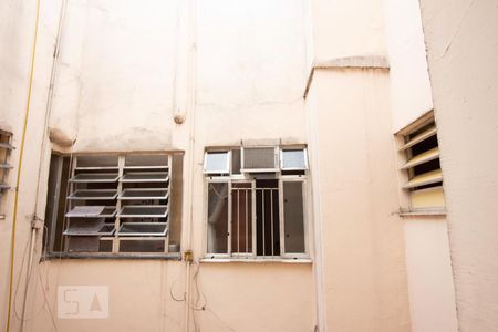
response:
<path id="1" fill-rule="evenodd" d="M 305 256 L 302 187 L 297 178 L 208 181 L 208 256 Z"/>

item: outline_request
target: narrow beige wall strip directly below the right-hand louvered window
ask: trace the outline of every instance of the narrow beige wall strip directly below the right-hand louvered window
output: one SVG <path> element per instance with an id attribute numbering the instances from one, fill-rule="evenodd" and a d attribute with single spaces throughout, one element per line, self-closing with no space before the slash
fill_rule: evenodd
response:
<path id="1" fill-rule="evenodd" d="M 405 217 L 412 331 L 458 331 L 455 288 L 444 217 Z"/>

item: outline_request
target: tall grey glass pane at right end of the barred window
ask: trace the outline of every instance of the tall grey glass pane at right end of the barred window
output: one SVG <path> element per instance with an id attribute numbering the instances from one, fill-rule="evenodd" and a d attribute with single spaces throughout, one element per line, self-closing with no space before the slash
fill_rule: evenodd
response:
<path id="1" fill-rule="evenodd" d="M 304 212 L 301 181 L 283 183 L 286 252 L 304 252 Z"/>

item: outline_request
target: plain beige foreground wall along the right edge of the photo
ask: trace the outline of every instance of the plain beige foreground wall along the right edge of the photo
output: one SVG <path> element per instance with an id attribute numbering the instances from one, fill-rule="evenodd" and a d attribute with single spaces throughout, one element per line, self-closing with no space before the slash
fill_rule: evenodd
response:
<path id="1" fill-rule="evenodd" d="M 496 1 L 422 0 L 460 331 L 498 326 Z"/>

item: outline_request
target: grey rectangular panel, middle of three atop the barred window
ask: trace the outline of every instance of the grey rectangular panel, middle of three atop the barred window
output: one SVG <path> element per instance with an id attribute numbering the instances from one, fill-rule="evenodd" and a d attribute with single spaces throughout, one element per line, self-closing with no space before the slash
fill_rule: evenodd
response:
<path id="1" fill-rule="evenodd" d="M 242 147 L 242 173 L 279 172 L 279 149 L 270 147 Z"/>

